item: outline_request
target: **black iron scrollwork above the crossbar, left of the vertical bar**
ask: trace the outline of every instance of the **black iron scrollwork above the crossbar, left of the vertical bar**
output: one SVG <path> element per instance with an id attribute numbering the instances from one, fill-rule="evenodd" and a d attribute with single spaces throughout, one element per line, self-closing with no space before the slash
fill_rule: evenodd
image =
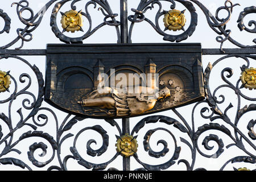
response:
<path id="1" fill-rule="evenodd" d="M 32 32 L 34 30 L 36 30 L 36 28 L 38 28 L 39 24 L 42 22 L 43 16 L 46 13 L 46 11 L 56 1 L 57 0 L 49 1 L 36 14 L 34 14 L 34 11 L 29 7 L 28 1 L 22 0 L 20 2 L 14 2 L 11 6 L 16 5 L 16 13 L 18 14 L 18 18 L 19 18 L 20 22 L 22 22 L 26 27 L 18 28 L 16 30 L 16 32 L 18 34 L 17 38 L 15 38 L 9 44 L 6 44 L 5 46 L 0 47 L 0 49 L 9 48 L 10 46 L 13 46 L 19 40 L 22 40 L 21 46 L 16 48 L 16 49 L 21 49 L 23 47 L 24 42 L 30 42 L 33 38 Z M 71 2 L 71 1 L 72 0 L 60 1 L 59 3 L 56 3 L 55 7 L 53 8 L 52 16 L 51 16 L 51 27 L 52 27 L 52 31 L 55 33 L 57 38 L 59 38 L 61 41 L 65 42 L 65 43 L 82 42 L 82 40 L 88 38 L 90 35 L 92 35 L 94 32 L 96 32 L 99 28 L 101 28 L 105 25 L 109 25 L 109 26 L 115 26 L 115 29 L 117 31 L 117 39 L 118 39 L 117 43 L 120 43 L 120 32 L 119 32 L 119 28 L 118 28 L 120 22 L 115 20 L 115 17 L 117 16 L 117 14 L 112 13 L 112 10 L 109 6 L 108 1 L 92 0 L 92 1 L 87 2 L 85 5 L 85 13 L 81 12 L 81 14 L 83 16 L 85 16 L 85 18 L 88 19 L 88 21 L 89 21 L 88 31 L 80 38 L 71 38 L 71 37 L 65 36 L 63 34 L 63 32 L 61 32 L 59 30 L 59 28 L 57 27 L 56 16 L 57 16 L 57 13 L 59 12 L 59 9 L 61 8 L 61 6 L 63 6 L 65 3 Z M 81 0 L 79 0 L 79 1 L 81 1 Z M 77 0 L 72 1 L 72 3 L 71 3 L 72 10 L 76 10 L 75 3 L 79 2 L 79 1 L 77 1 Z M 97 4 L 100 5 L 98 10 L 101 10 L 101 12 L 105 16 L 105 18 L 104 18 L 103 23 L 99 24 L 97 27 L 93 28 L 93 30 L 92 30 L 92 18 L 90 17 L 90 14 L 88 11 L 88 6 L 94 5 L 94 8 L 96 8 Z M 25 10 L 30 12 L 30 18 L 24 18 L 22 16 L 23 11 L 25 11 Z M 9 32 L 10 31 L 10 21 L 11 21 L 9 16 L 6 13 L 3 13 L 2 10 L 0 10 L 0 16 L 5 20 L 5 27 L 0 33 L 3 33 L 4 31 Z"/>

